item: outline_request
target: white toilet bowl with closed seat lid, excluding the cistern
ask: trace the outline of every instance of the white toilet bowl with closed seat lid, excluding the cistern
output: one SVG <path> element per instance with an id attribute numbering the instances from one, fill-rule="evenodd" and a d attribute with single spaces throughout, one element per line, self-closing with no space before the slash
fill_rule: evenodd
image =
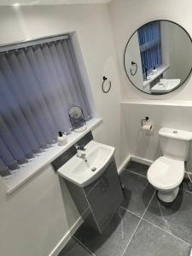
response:
<path id="1" fill-rule="evenodd" d="M 184 177 L 184 161 L 160 157 L 148 169 L 148 181 L 158 190 L 161 201 L 175 200 Z"/>

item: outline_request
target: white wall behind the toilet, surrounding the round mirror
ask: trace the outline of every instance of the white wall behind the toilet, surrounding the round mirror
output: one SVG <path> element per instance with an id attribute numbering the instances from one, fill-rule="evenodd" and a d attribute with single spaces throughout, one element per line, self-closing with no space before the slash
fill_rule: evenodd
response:
<path id="1" fill-rule="evenodd" d="M 119 61 L 121 78 L 122 120 L 125 129 L 128 153 L 147 160 L 155 160 L 160 156 L 158 130 L 160 126 L 180 128 L 192 131 L 192 79 L 179 89 L 165 96 L 151 96 L 137 90 L 127 79 L 123 67 L 123 53 L 131 34 L 138 27 L 151 20 L 172 20 L 183 26 L 192 36 L 192 2 L 190 0 L 113 0 L 109 4 L 113 37 Z M 192 51 L 192 48 L 189 49 Z M 189 55 L 191 52 L 189 53 Z M 192 67 L 192 59 L 190 59 Z M 147 102 L 144 105 L 141 102 Z M 158 105 L 154 104 L 158 101 Z M 185 101 L 185 102 L 182 102 Z M 189 101 L 189 102 L 186 102 Z M 131 104 L 130 102 L 134 102 Z M 174 107 L 166 106 L 175 102 Z M 140 104 L 141 103 L 141 104 Z M 184 107 L 184 106 L 189 107 Z M 154 136 L 146 136 L 141 131 L 140 120 L 148 116 L 154 121 Z"/>

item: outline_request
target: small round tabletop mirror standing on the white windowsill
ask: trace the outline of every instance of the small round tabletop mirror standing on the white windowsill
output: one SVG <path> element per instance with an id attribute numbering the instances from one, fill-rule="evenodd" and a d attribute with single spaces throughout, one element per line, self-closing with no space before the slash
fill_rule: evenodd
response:
<path id="1" fill-rule="evenodd" d="M 87 129 L 86 121 L 84 119 L 84 112 L 82 108 L 73 105 L 68 109 L 68 116 L 75 132 L 81 132 Z"/>

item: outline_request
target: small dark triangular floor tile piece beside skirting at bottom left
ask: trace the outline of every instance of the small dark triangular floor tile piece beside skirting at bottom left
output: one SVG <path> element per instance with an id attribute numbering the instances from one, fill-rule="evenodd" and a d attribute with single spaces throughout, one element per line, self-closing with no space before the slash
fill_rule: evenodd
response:
<path id="1" fill-rule="evenodd" d="M 67 242 L 67 245 L 62 249 L 58 256 L 90 256 L 90 254 L 84 247 L 79 245 L 73 237 Z"/>

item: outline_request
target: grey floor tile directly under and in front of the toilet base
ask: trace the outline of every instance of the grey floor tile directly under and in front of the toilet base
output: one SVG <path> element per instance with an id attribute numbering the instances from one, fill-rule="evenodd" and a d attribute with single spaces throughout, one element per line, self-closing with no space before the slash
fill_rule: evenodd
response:
<path id="1" fill-rule="evenodd" d="M 192 243 L 192 193 L 179 190 L 172 203 L 160 202 L 154 196 L 144 217 L 184 241 Z"/>

